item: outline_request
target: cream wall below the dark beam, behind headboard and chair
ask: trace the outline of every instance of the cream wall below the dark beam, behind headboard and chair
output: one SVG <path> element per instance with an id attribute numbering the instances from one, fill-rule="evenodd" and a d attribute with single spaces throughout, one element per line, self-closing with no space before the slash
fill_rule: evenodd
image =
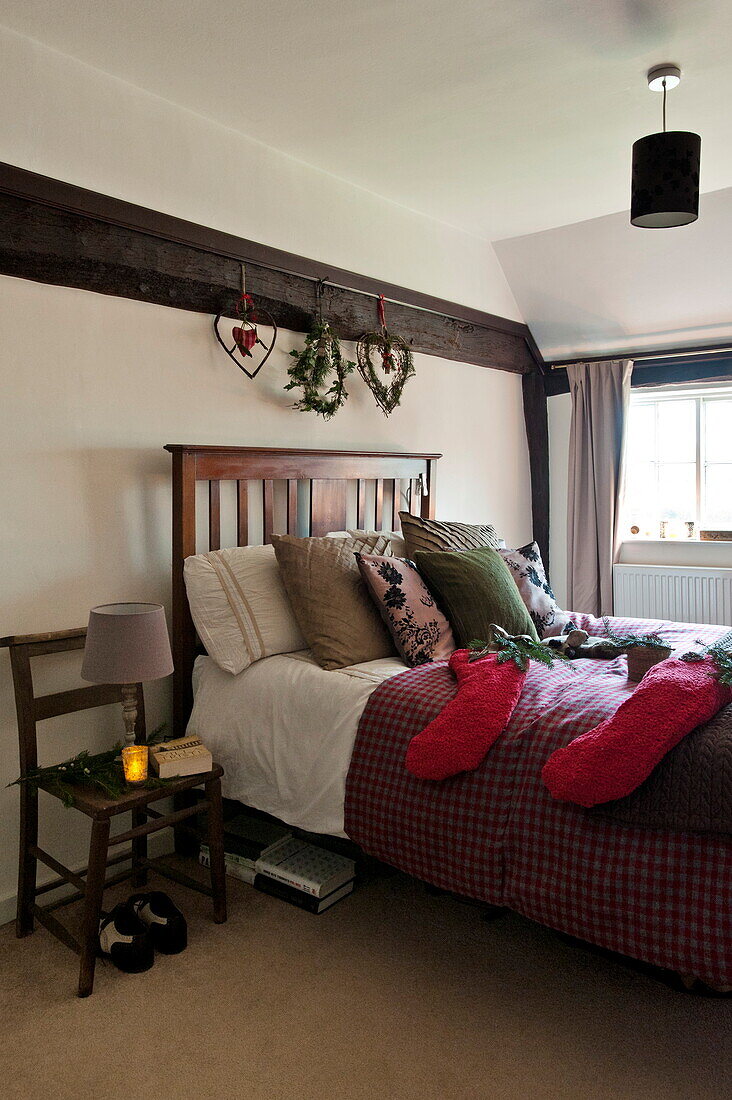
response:
<path id="1" fill-rule="evenodd" d="M 416 355 L 417 376 L 389 419 L 358 380 L 325 424 L 293 411 L 283 391 L 287 351 L 303 339 L 287 331 L 249 382 L 216 344 L 210 318 L 197 314 L 1 278 L 0 327 L 0 636 L 84 625 L 97 603 L 168 603 L 166 442 L 443 452 L 439 516 L 490 520 L 514 546 L 531 538 L 516 375 Z M 64 675 L 75 661 L 40 659 L 41 686 L 72 686 Z M 167 683 L 146 689 L 151 728 L 167 715 L 168 691 Z M 18 774 L 7 650 L 0 725 L 1 921 L 10 917 L 2 900 L 14 892 L 18 815 L 18 794 L 4 785 Z M 46 760 L 63 759 L 107 747 L 120 717 L 98 712 L 47 729 L 61 733 L 45 743 Z M 76 817 L 53 806 L 45 833 L 72 864 L 85 835 Z"/>

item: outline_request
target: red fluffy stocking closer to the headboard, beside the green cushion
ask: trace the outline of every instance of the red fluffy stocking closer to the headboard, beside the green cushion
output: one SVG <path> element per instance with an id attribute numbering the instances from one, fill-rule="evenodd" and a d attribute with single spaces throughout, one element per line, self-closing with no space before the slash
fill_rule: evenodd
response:
<path id="1" fill-rule="evenodd" d="M 409 741 L 407 770 L 418 779 L 447 779 L 472 771 L 505 729 L 518 702 L 526 673 L 515 661 L 498 663 L 489 653 L 469 662 L 469 650 L 450 658 L 458 694 Z"/>

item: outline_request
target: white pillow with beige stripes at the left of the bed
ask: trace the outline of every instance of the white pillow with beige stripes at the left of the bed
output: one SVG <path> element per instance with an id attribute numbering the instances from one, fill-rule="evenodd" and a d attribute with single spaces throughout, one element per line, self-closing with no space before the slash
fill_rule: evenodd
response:
<path id="1" fill-rule="evenodd" d="M 186 558 L 183 575 L 198 637 L 225 672 L 307 649 L 274 547 L 232 547 Z"/>

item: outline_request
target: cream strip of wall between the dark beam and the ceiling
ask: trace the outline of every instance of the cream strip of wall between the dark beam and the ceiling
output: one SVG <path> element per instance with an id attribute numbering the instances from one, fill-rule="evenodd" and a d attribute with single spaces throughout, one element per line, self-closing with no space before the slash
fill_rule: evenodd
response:
<path id="1" fill-rule="evenodd" d="M 488 241 L 2 28 L 0 55 L 0 161 L 521 319 Z"/>

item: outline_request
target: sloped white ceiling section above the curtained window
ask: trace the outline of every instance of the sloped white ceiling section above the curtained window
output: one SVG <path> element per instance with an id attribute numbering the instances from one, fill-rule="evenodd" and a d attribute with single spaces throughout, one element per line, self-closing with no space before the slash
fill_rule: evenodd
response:
<path id="1" fill-rule="evenodd" d="M 732 344 L 732 188 L 678 229 L 623 211 L 493 248 L 546 360 Z"/>

